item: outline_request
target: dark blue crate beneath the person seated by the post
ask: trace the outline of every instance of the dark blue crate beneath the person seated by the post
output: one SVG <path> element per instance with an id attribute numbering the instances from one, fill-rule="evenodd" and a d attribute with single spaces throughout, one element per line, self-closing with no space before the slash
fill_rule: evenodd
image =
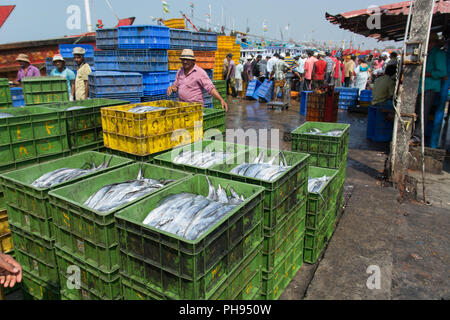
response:
<path id="1" fill-rule="evenodd" d="M 394 110 L 392 104 L 386 104 L 382 107 L 369 106 L 367 139 L 374 142 L 389 142 L 392 140 L 394 122 L 386 120 L 388 113 L 381 112 L 381 109 Z"/>

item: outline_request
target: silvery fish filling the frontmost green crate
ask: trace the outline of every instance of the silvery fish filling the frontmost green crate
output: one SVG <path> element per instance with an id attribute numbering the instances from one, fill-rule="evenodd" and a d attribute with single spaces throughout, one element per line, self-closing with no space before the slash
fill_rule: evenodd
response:
<path id="1" fill-rule="evenodd" d="M 231 187 L 230 196 L 221 185 L 216 189 L 208 180 L 207 197 L 191 193 L 171 195 L 161 201 L 142 222 L 187 240 L 200 238 L 230 211 L 245 201 Z"/>

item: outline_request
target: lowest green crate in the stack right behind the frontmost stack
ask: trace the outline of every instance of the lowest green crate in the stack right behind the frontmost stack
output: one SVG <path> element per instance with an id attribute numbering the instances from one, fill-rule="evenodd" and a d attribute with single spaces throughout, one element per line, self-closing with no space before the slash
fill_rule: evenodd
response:
<path id="1" fill-rule="evenodd" d="M 287 250 L 284 258 L 271 272 L 262 272 L 262 285 L 260 300 L 278 300 L 289 285 L 295 274 L 303 265 L 302 235 L 297 242 Z"/>

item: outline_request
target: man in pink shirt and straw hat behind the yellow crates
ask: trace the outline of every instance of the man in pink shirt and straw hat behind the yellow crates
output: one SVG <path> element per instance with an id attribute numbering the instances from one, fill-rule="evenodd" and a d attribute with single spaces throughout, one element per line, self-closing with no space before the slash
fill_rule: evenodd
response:
<path id="1" fill-rule="evenodd" d="M 178 70 L 175 82 L 167 89 L 167 95 L 178 92 L 180 101 L 204 104 L 203 90 L 220 101 L 222 109 L 228 111 L 228 105 L 222 99 L 205 70 L 195 64 L 194 52 L 184 49 L 180 57 L 183 67 Z"/>

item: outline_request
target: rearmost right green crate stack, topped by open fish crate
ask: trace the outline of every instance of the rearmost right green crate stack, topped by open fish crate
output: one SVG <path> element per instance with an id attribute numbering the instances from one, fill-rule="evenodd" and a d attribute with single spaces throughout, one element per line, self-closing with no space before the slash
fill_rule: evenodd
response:
<path id="1" fill-rule="evenodd" d="M 342 133 L 336 136 L 310 134 L 312 129 L 319 129 L 323 133 L 340 130 L 342 131 Z M 334 232 L 336 218 L 343 204 L 349 136 L 349 124 L 326 122 L 306 122 L 291 133 L 292 150 L 309 153 L 311 155 L 311 166 L 337 170 L 337 175 L 335 177 L 336 188 L 334 191 L 334 198 L 336 200 L 334 201 L 334 203 L 330 204 L 330 206 L 334 208 L 334 212 L 332 214 L 330 213 L 328 220 L 325 220 L 328 221 L 327 226 L 322 226 L 322 229 L 327 229 L 326 238 L 324 240 L 325 242 L 330 239 L 331 235 Z M 310 235 L 313 234 L 311 230 L 312 229 L 310 229 L 309 232 Z M 318 243 L 320 244 L 321 242 L 319 241 Z M 312 255 L 310 258 L 308 258 L 306 254 L 306 247 L 307 245 L 305 242 L 305 261 L 314 263 L 317 260 L 318 256 Z M 315 259 L 312 259 L 314 257 Z"/>

